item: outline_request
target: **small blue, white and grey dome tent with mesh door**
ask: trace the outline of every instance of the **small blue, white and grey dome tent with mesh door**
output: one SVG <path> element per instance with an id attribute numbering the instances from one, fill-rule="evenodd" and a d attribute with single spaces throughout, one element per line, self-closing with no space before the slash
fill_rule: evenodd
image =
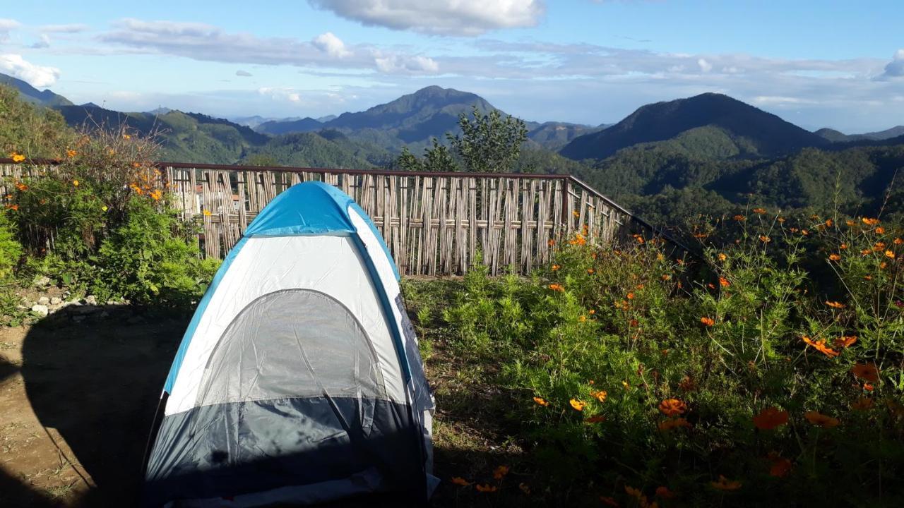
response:
<path id="1" fill-rule="evenodd" d="M 199 302 L 149 439 L 144 503 L 426 503 L 433 408 L 379 231 L 335 187 L 298 183 Z"/>

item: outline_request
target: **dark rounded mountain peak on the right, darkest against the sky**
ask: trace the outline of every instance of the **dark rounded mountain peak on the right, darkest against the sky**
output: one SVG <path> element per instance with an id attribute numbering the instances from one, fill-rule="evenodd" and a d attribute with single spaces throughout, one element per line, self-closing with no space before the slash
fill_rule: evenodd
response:
<path id="1" fill-rule="evenodd" d="M 776 115 L 717 93 L 638 108 L 612 127 L 576 137 L 560 150 L 572 159 L 602 159 L 639 143 L 665 141 L 698 127 L 715 127 L 743 148 L 740 155 L 780 155 L 829 141 Z"/>

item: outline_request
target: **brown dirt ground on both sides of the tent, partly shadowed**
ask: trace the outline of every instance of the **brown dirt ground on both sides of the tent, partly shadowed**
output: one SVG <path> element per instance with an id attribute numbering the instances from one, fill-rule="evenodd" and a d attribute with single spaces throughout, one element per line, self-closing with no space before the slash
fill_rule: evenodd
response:
<path id="1" fill-rule="evenodd" d="M 136 504 L 148 430 L 188 317 L 104 311 L 0 328 L 0 507 Z M 480 421 L 494 410 L 490 394 L 441 347 L 427 368 L 439 406 L 435 473 L 489 475 L 513 452 Z M 444 482 L 431 504 L 487 505 L 462 494 Z"/>

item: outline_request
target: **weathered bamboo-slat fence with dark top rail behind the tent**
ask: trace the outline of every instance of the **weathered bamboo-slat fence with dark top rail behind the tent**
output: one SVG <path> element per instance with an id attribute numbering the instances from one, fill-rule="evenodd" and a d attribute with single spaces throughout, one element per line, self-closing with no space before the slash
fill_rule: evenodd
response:
<path id="1" fill-rule="evenodd" d="M 0 159 L 0 193 L 52 165 Z M 30 169 L 29 169 L 30 168 Z M 653 228 L 569 175 L 416 173 L 160 163 L 185 221 L 202 224 L 207 257 L 222 258 L 278 193 L 308 181 L 335 185 L 370 214 L 400 273 L 464 273 L 478 251 L 491 273 L 529 273 L 551 243 L 579 233 L 609 242 Z"/>

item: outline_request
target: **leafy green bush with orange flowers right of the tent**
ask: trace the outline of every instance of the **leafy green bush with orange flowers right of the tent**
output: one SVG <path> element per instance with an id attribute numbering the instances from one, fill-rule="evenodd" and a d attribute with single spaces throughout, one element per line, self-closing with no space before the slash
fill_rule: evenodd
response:
<path id="1" fill-rule="evenodd" d="M 576 235 L 532 278 L 466 276 L 444 313 L 452 347 L 494 365 L 546 503 L 904 495 L 900 230 L 760 209 L 730 222 L 720 245 L 701 226 L 695 263 Z"/>

